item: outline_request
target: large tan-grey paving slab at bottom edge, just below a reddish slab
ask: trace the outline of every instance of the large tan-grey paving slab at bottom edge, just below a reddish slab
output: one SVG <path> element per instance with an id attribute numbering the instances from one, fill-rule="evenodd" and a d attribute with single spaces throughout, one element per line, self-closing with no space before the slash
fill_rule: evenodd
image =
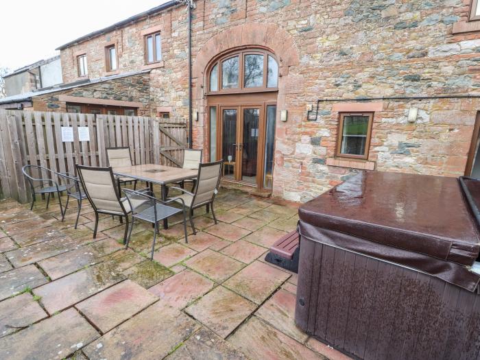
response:
<path id="1" fill-rule="evenodd" d="M 84 348 L 90 360 L 163 359 L 200 326 L 158 302 Z"/>

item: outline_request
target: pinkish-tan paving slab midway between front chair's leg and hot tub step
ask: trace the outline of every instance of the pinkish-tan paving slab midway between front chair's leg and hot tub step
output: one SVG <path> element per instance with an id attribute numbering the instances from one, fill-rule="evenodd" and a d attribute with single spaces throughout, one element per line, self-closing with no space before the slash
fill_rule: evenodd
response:
<path id="1" fill-rule="evenodd" d="M 210 249 L 204 250 L 185 261 L 185 265 L 217 283 L 222 283 L 243 267 L 241 262 Z"/>

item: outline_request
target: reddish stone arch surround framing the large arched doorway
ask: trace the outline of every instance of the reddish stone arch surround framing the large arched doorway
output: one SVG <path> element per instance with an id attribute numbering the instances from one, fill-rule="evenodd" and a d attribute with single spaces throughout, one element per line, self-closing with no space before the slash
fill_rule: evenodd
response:
<path id="1" fill-rule="evenodd" d="M 208 126 L 204 121 L 206 68 L 219 53 L 239 47 L 255 46 L 269 49 L 279 60 L 277 111 L 280 112 L 285 108 L 285 95 L 290 82 L 289 70 L 300 62 L 296 44 L 291 36 L 285 29 L 272 23 L 245 23 L 224 29 L 203 45 L 193 62 L 193 109 L 198 111 L 198 121 L 193 123 L 193 147 L 203 147 L 205 154 L 208 154 Z"/>

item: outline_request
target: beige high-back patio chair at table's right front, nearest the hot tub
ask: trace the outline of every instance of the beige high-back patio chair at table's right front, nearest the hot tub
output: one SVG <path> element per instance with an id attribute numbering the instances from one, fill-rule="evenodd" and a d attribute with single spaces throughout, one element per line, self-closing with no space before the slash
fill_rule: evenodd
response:
<path id="1" fill-rule="evenodd" d="M 195 225 L 193 224 L 193 209 L 200 208 L 200 206 L 210 206 L 212 210 L 213 220 L 217 224 L 217 217 L 215 217 L 215 211 L 213 211 L 213 200 L 218 193 L 218 186 L 220 184 L 221 167 L 223 160 L 215 163 L 200 164 L 198 168 L 197 185 L 193 192 L 189 192 L 185 189 L 178 187 L 171 187 L 182 191 L 182 195 L 173 198 L 176 202 L 184 204 L 189 208 L 190 224 L 193 229 L 193 234 L 196 235 Z"/>

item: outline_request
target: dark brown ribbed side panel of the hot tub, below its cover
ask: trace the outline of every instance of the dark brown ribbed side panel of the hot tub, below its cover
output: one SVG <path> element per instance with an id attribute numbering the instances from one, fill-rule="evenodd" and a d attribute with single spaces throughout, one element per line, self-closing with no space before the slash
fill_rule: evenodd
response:
<path id="1" fill-rule="evenodd" d="M 359 359 L 480 359 L 480 296 L 302 237 L 296 322 Z"/>

